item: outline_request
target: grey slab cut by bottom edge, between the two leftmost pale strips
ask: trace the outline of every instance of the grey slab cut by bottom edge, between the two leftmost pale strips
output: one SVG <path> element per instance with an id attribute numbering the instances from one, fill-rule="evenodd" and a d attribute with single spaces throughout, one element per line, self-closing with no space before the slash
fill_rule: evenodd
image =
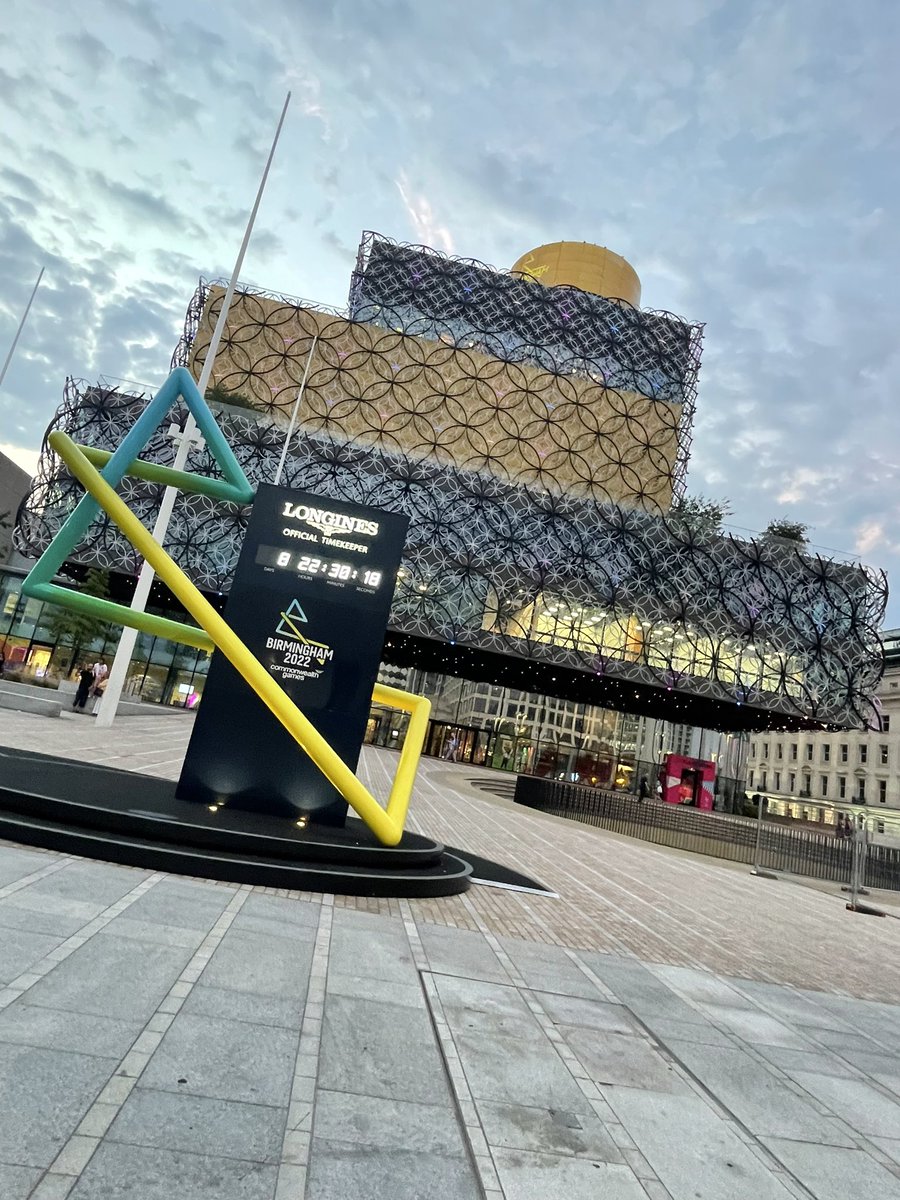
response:
<path id="1" fill-rule="evenodd" d="M 277 1168 L 104 1141 L 68 1200 L 272 1200 Z"/>

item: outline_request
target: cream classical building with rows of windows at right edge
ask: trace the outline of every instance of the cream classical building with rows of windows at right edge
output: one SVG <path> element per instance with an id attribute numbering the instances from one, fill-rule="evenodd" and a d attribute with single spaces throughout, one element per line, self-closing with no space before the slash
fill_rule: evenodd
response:
<path id="1" fill-rule="evenodd" d="M 900 810 L 900 629 L 886 630 L 884 677 L 878 686 L 880 730 L 841 733 L 757 733 L 750 738 L 746 784 L 774 812 L 803 816 L 865 803 Z M 810 820 L 818 820 L 812 811 Z"/>

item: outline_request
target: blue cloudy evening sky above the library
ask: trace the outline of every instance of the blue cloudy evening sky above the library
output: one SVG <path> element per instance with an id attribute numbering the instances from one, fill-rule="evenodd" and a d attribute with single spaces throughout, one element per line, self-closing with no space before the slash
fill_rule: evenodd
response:
<path id="1" fill-rule="evenodd" d="M 893 578 L 898 47 L 895 0 L 5 0 L 2 353 L 47 275 L 0 448 L 66 374 L 164 378 L 290 88 L 247 282 L 341 306 L 362 229 L 607 245 L 706 322 L 690 490 Z"/>

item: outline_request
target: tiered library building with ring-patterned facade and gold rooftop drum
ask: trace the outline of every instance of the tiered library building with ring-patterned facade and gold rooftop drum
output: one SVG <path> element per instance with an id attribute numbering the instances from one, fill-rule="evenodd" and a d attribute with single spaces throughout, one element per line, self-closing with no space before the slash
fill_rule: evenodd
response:
<path id="1" fill-rule="evenodd" d="M 194 377 L 222 298 L 202 283 L 191 300 L 174 362 Z M 667 516 L 701 338 L 641 308 L 631 266 L 596 246 L 544 246 L 499 271 L 367 233 L 347 312 L 235 294 L 209 396 L 252 481 L 281 466 L 284 486 L 408 514 L 383 670 L 436 698 L 432 752 L 622 786 L 666 749 L 642 750 L 638 726 L 862 727 L 881 674 L 882 575 Z M 145 403 L 70 380 L 52 428 L 113 449 Z M 166 430 L 145 457 L 172 461 Z M 188 466 L 214 472 L 202 445 Z M 24 554 L 79 493 L 44 450 Z M 152 524 L 160 488 L 130 479 L 122 493 Z M 167 547 L 214 599 L 246 516 L 178 502 Z M 139 563 L 102 521 L 73 571 L 91 565 L 127 595 Z M 28 659 L 46 649 L 42 614 L 13 600 L 13 576 L 5 587 L 0 638 Z M 202 654 L 142 638 L 131 690 L 192 704 L 204 671 Z M 371 737 L 396 737 L 394 721 L 373 712 Z"/>

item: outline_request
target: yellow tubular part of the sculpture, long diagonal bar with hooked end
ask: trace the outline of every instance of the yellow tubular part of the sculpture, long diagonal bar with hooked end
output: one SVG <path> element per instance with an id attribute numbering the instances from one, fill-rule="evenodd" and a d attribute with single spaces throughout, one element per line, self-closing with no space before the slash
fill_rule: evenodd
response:
<path id="1" fill-rule="evenodd" d="M 397 764 L 386 808 L 382 808 L 368 788 L 354 775 L 346 762 L 331 749 L 318 730 L 300 712 L 284 690 L 254 658 L 230 626 L 191 583 L 185 572 L 158 545 L 128 506 L 116 496 L 80 446 L 61 432 L 52 433 L 49 444 L 72 474 L 91 493 L 112 521 L 121 529 L 134 548 L 154 568 L 160 578 L 178 596 L 198 625 L 205 630 L 211 646 L 221 650 L 238 673 L 250 684 L 266 708 L 281 721 L 296 744 L 312 758 L 323 775 L 343 796 L 352 809 L 365 821 L 376 838 L 385 846 L 396 846 L 403 836 L 415 772 L 421 757 L 428 727 L 431 702 L 424 696 L 377 684 L 373 700 L 409 713 L 409 728 Z"/>

